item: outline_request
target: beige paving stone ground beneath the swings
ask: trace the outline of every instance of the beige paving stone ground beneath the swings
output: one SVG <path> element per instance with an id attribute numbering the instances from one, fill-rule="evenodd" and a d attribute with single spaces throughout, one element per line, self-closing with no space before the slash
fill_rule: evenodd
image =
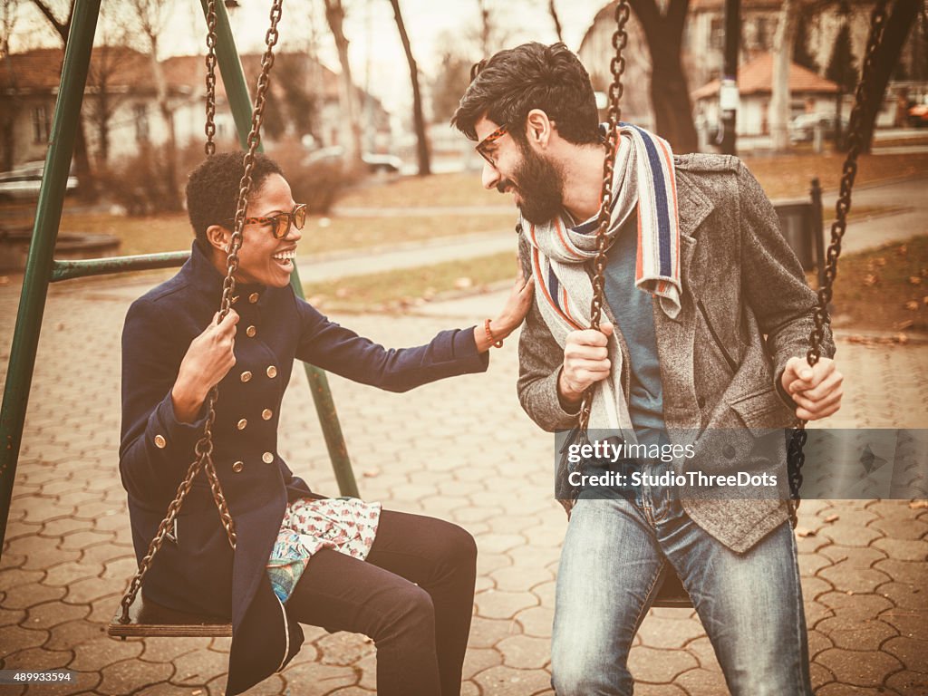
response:
<path id="1" fill-rule="evenodd" d="M 0 694 L 207 696 L 225 685 L 228 639 L 106 637 L 134 570 L 117 470 L 122 317 L 154 280 L 76 281 L 45 311 L 26 432 L 0 562 L 0 664 L 69 667 L 69 687 Z M 128 284 L 127 284 L 128 283 Z M 6 368 L 18 282 L 0 287 Z M 421 316 L 339 316 L 388 345 L 490 316 L 498 294 Z M 839 340 L 845 406 L 833 425 L 928 427 L 928 344 Z M 487 374 L 406 394 L 332 377 L 362 495 L 458 522 L 480 548 L 466 696 L 551 694 L 549 638 L 565 529 L 551 497 L 551 442 L 515 395 L 515 341 Z M 302 371 L 285 399 L 281 451 L 316 490 L 337 490 Z M 908 501 L 807 501 L 798 539 L 812 678 L 819 696 L 928 694 L 928 509 Z M 374 647 L 307 627 L 303 651 L 249 692 L 361 696 L 375 690 Z M 654 610 L 631 653 L 640 696 L 728 691 L 702 625 Z"/>

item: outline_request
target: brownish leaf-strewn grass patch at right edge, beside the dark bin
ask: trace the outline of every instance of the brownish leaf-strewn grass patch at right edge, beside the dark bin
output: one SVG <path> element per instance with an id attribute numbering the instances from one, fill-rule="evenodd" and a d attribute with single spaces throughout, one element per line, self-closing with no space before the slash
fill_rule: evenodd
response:
<path id="1" fill-rule="evenodd" d="M 833 297 L 835 327 L 928 331 L 928 236 L 842 256 Z"/>

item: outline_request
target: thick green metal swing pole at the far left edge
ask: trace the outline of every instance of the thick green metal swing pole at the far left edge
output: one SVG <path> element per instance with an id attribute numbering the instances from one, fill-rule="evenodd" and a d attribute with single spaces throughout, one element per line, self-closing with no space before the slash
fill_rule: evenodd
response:
<path id="1" fill-rule="evenodd" d="M 58 225 L 61 222 L 71 155 L 80 122 L 99 9 L 100 0 L 76 0 L 71 15 L 71 32 L 64 54 L 61 87 L 55 105 L 55 118 L 45 156 L 45 173 L 32 228 L 32 244 L 19 297 L 16 331 L 6 369 L 3 407 L 0 409 L 0 554 L 3 553 L 9 501 L 13 495 L 22 428 L 26 420 L 26 407 L 29 405 L 35 352 L 45 313 L 52 257 L 58 240 Z"/>

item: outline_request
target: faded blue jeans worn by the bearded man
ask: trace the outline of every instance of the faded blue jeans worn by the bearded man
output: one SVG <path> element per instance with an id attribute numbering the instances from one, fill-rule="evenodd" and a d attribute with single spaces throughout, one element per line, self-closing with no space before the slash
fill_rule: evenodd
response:
<path id="1" fill-rule="evenodd" d="M 628 651 L 664 574 L 673 570 L 690 593 L 733 696 L 811 696 L 789 524 L 738 554 L 690 520 L 675 488 L 661 486 L 610 499 L 581 496 L 574 506 L 551 638 L 558 696 L 632 693 Z"/>

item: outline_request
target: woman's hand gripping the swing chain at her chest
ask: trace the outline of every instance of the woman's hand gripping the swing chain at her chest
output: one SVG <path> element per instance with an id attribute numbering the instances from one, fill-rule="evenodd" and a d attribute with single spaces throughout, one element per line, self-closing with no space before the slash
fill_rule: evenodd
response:
<path id="1" fill-rule="evenodd" d="M 217 312 L 210 326 L 190 342 L 171 390 L 174 416 L 183 423 L 192 423 L 197 419 L 210 390 L 235 365 L 233 349 L 238 313 L 230 309 L 217 324 L 218 318 Z"/>

